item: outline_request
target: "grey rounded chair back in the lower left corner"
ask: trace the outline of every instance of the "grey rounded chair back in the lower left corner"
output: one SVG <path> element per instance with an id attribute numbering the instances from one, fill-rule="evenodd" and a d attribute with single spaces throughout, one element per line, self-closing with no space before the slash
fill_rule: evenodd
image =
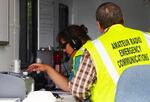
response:
<path id="1" fill-rule="evenodd" d="M 26 96 L 25 82 L 23 79 L 0 73 L 0 98 L 20 98 Z"/>

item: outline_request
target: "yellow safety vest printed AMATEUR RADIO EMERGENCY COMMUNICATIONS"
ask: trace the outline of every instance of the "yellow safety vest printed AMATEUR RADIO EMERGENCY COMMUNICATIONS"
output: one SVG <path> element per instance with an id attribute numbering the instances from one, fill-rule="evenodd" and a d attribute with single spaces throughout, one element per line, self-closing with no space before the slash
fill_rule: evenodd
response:
<path id="1" fill-rule="evenodd" d="M 148 37 L 141 31 L 116 24 L 98 39 L 87 42 L 86 49 L 97 72 L 97 81 L 91 88 L 92 102 L 114 102 L 122 72 L 130 66 L 150 64 Z"/>

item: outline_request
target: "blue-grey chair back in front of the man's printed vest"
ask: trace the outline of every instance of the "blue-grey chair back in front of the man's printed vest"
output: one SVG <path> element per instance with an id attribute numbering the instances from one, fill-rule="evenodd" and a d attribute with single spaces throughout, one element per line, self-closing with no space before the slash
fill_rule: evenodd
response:
<path id="1" fill-rule="evenodd" d="M 123 72 L 115 102 L 150 102 L 150 65 L 134 66 Z"/>

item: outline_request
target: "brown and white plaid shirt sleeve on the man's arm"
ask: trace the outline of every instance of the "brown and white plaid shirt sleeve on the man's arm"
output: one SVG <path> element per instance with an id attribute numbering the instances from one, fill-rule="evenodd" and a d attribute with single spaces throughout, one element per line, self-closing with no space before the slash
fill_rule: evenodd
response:
<path id="1" fill-rule="evenodd" d="M 73 96 L 79 99 L 86 99 L 90 97 L 90 88 L 96 81 L 96 69 L 91 56 L 85 50 L 81 58 L 80 65 L 76 75 L 69 82 L 69 89 Z"/>

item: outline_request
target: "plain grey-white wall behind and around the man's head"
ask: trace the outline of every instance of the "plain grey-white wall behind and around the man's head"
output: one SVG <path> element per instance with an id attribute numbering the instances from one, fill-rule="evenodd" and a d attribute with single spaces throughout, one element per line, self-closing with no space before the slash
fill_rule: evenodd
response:
<path id="1" fill-rule="evenodd" d="M 84 24 L 88 27 L 89 35 L 95 39 L 100 32 L 97 29 L 95 21 L 95 12 L 97 7 L 106 1 L 117 3 L 124 14 L 125 25 L 141 29 L 150 30 L 150 4 L 144 3 L 144 0 L 73 0 L 74 10 L 72 23 Z"/>

